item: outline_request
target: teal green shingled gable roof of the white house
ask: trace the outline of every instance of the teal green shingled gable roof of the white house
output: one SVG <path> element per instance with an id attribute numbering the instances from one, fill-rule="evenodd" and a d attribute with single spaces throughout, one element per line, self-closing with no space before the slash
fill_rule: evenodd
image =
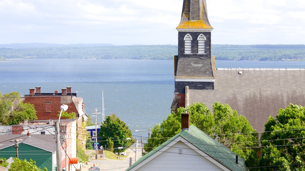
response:
<path id="1" fill-rule="evenodd" d="M 138 159 L 133 165 L 131 165 L 125 171 L 130 170 L 139 163 L 143 162 L 145 159 L 148 159 L 151 155 L 161 150 L 163 147 L 167 146 L 170 142 L 174 141 L 178 136 L 181 136 L 186 141 L 190 142 L 192 145 L 196 146 L 202 152 L 209 155 L 211 158 L 221 163 L 226 168 L 232 171 L 246 171 L 245 160 L 238 156 L 238 164 L 235 163 L 236 154 L 220 144 L 218 141 L 214 140 L 212 137 L 199 130 L 197 127 L 191 125 L 188 130 L 181 131 L 174 137 L 170 138 L 162 145 L 153 149 L 151 152 L 147 153 L 140 159 Z"/>

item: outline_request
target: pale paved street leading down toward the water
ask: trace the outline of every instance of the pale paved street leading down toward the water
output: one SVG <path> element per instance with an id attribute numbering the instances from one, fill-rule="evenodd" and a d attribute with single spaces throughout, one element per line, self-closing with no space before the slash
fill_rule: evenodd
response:
<path id="1" fill-rule="evenodd" d="M 91 166 L 99 166 L 100 170 L 112 170 L 112 171 L 125 171 L 129 167 L 129 158 L 132 158 L 132 164 L 135 162 L 134 149 L 128 149 L 127 157 L 120 157 L 123 160 L 111 160 L 111 159 L 95 159 L 92 157 L 88 162 L 88 165 L 82 168 L 82 171 L 88 171 Z M 141 157 L 141 149 L 138 149 L 138 159 Z"/>

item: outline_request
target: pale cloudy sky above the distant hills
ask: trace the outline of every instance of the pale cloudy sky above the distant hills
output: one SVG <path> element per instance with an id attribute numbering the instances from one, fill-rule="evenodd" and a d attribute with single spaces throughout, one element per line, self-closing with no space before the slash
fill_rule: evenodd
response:
<path id="1" fill-rule="evenodd" d="M 305 44 L 304 0 L 206 0 L 212 44 Z M 183 0 L 0 0 L 0 44 L 178 44 Z"/>

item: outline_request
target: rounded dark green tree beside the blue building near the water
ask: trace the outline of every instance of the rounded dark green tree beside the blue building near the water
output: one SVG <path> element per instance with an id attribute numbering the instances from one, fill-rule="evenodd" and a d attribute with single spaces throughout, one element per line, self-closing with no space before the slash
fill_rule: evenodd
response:
<path id="1" fill-rule="evenodd" d="M 113 141 L 114 152 L 123 152 L 124 149 L 118 149 L 118 147 L 130 147 L 135 142 L 133 139 L 126 139 L 132 138 L 131 130 L 114 113 L 105 117 L 98 137 L 100 138 L 100 145 L 108 145 L 108 139 L 111 139 Z"/>

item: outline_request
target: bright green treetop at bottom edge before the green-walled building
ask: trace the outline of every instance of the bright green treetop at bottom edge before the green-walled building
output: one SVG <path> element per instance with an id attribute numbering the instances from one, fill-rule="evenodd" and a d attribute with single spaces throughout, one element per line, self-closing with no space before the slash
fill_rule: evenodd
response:
<path id="1" fill-rule="evenodd" d="M 26 159 L 20 160 L 18 158 L 13 158 L 14 162 L 11 164 L 11 168 L 9 171 L 41 171 L 35 164 L 36 162 L 30 159 L 30 161 L 27 161 Z M 45 167 L 43 171 L 48 171 L 48 169 Z"/>

